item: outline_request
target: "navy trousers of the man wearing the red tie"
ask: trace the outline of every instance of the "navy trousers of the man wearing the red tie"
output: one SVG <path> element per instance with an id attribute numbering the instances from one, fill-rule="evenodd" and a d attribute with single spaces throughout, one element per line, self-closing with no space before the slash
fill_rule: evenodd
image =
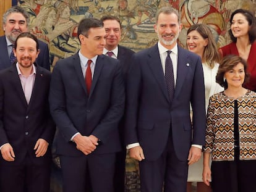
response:
<path id="1" fill-rule="evenodd" d="M 64 192 L 114 192 L 116 154 L 60 156 Z"/>

